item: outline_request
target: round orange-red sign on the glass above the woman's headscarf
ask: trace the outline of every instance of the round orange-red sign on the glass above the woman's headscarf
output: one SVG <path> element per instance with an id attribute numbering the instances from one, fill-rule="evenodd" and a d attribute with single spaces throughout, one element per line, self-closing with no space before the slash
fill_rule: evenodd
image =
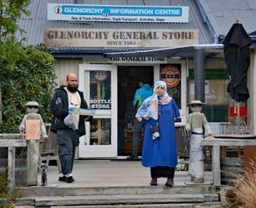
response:
<path id="1" fill-rule="evenodd" d="M 161 68 L 160 77 L 166 82 L 167 87 L 176 87 L 181 81 L 181 72 L 174 65 L 166 65 Z"/>

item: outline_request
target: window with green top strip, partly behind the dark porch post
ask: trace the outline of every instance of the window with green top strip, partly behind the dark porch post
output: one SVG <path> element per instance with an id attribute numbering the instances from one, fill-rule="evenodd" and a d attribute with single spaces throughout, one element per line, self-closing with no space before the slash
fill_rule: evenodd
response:
<path id="1" fill-rule="evenodd" d="M 205 102 L 204 114 L 209 122 L 228 121 L 228 102 L 227 84 L 229 82 L 227 70 L 225 69 L 206 69 L 205 71 Z M 193 69 L 189 70 L 188 79 L 188 102 L 195 97 L 195 82 Z M 189 109 L 190 110 L 190 109 Z"/>

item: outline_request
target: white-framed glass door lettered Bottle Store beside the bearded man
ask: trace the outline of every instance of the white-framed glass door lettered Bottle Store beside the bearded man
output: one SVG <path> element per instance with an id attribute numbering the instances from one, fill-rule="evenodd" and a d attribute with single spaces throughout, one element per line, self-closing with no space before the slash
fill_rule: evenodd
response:
<path id="1" fill-rule="evenodd" d="M 79 85 L 85 101 L 95 110 L 85 122 L 86 135 L 80 138 L 80 158 L 117 156 L 117 66 L 79 65 Z"/>

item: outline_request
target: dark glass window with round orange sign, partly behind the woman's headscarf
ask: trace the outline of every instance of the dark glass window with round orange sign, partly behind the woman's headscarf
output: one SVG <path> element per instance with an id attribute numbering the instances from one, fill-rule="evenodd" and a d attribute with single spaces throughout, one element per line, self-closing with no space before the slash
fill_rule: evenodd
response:
<path id="1" fill-rule="evenodd" d="M 160 80 L 166 82 L 168 94 L 181 109 L 181 64 L 160 65 Z"/>

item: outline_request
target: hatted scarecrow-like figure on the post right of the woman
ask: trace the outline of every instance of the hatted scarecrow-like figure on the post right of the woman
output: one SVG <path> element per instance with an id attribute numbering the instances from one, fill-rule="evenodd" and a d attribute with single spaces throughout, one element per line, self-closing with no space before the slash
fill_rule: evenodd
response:
<path id="1" fill-rule="evenodd" d="M 213 136 L 205 114 L 201 113 L 205 103 L 200 100 L 193 100 L 188 106 L 192 114 L 189 114 L 186 121 L 186 131 L 191 131 L 190 156 L 188 174 L 191 175 L 191 182 L 204 182 L 204 160 L 206 159 L 204 146 L 201 145 L 203 128 L 207 136 Z"/>

